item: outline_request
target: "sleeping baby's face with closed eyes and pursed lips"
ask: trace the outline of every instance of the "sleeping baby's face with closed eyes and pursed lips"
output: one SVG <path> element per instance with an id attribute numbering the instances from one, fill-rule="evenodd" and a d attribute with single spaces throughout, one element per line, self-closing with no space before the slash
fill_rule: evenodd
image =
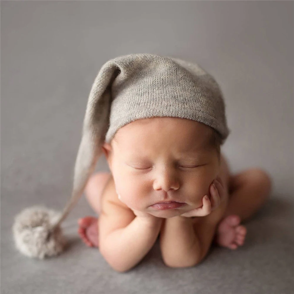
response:
<path id="1" fill-rule="evenodd" d="M 216 151 L 206 147 L 208 130 L 202 123 L 171 117 L 120 128 L 117 142 L 104 148 L 121 201 L 161 218 L 201 207 L 219 171 Z"/>

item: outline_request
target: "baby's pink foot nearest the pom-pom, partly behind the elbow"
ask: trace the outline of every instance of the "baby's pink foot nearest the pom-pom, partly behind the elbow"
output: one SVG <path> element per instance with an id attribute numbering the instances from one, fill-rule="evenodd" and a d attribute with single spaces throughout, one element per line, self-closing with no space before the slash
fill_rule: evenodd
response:
<path id="1" fill-rule="evenodd" d="M 78 234 L 89 247 L 98 247 L 98 219 L 86 216 L 78 220 Z"/>

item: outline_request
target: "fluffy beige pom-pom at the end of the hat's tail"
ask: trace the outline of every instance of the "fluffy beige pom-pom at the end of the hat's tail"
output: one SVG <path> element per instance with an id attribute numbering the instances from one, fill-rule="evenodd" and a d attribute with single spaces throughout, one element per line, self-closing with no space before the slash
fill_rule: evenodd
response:
<path id="1" fill-rule="evenodd" d="M 60 226 L 52 230 L 60 213 L 44 206 L 21 211 L 12 227 L 16 248 L 29 257 L 43 259 L 61 253 L 66 245 Z"/>

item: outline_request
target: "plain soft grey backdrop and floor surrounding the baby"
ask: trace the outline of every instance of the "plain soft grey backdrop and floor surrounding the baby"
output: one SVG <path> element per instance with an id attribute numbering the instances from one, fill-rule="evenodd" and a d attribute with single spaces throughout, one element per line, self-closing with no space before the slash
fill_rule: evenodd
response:
<path id="1" fill-rule="evenodd" d="M 293 1 L 1 1 L 1 293 L 293 293 Z M 21 209 L 61 210 L 71 194 L 91 85 L 130 53 L 199 63 L 225 95 L 232 171 L 273 177 L 245 245 L 197 267 L 163 265 L 158 243 L 114 272 L 77 235 L 84 198 L 63 224 L 69 249 L 45 261 L 14 248 Z M 108 171 L 104 157 L 97 170 Z"/>

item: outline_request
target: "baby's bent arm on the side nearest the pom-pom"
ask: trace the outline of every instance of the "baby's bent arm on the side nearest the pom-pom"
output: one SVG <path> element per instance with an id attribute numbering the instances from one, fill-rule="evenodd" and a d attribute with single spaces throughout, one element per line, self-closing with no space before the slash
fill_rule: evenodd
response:
<path id="1" fill-rule="evenodd" d="M 99 216 L 99 250 L 114 270 L 124 272 L 151 249 L 162 219 L 135 216 L 118 200 L 115 189 L 106 189 L 104 193 Z"/>

